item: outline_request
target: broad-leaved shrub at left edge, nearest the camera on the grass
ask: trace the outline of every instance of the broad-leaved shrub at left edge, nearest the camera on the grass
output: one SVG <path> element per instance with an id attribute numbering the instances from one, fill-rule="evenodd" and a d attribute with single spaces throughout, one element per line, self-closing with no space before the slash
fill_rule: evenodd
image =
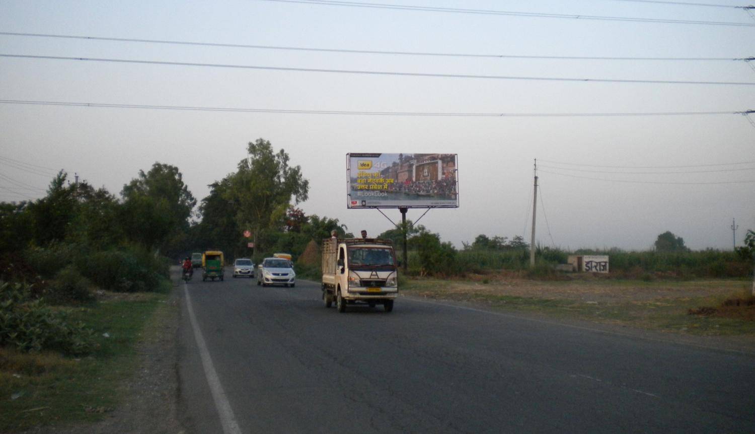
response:
<path id="1" fill-rule="evenodd" d="M 0 282 L 0 346 L 82 355 L 94 345 L 93 331 L 81 322 L 69 323 L 66 312 L 32 300 L 28 285 Z"/>

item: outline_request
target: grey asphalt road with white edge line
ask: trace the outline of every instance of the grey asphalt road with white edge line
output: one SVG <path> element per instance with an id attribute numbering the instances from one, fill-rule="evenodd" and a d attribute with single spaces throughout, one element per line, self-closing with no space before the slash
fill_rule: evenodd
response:
<path id="1" fill-rule="evenodd" d="M 755 432 L 755 356 L 405 297 L 340 314 L 319 283 L 197 277 L 190 432 Z"/>

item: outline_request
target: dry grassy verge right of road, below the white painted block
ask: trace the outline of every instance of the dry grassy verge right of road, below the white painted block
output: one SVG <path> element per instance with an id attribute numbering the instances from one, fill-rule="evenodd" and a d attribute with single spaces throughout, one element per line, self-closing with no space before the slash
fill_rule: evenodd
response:
<path id="1" fill-rule="evenodd" d="M 701 336 L 755 334 L 755 306 L 718 309 L 713 315 L 690 315 L 701 306 L 722 306 L 747 293 L 742 281 L 697 282 L 455 282 L 407 279 L 404 294 L 484 304 L 495 309 L 535 312 L 562 319 L 580 319 L 656 331 Z M 602 291 L 596 291 L 597 286 Z M 535 296 L 524 296 L 532 288 Z M 536 290 L 536 291 L 535 291 Z M 554 294 L 554 295 L 547 295 Z M 728 309 L 728 310 L 727 310 Z"/>

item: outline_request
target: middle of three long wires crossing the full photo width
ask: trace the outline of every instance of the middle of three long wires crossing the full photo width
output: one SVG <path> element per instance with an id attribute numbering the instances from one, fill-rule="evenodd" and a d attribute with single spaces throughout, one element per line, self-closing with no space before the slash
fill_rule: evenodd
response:
<path id="1" fill-rule="evenodd" d="M 401 75 L 414 77 L 442 77 L 442 78 L 488 78 L 497 80 L 531 80 L 546 82 L 585 82 L 585 83 L 632 83 L 632 84 L 655 84 L 655 85 L 755 85 L 755 82 L 687 82 L 681 80 L 628 80 L 615 78 L 563 78 L 563 77 L 521 77 L 507 75 L 467 75 L 467 74 L 439 74 L 431 72 L 395 72 L 395 71 L 361 71 L 356 69 L 320 69 L 320 68 L 291 68 L 284 66 L 254 66 L 254 65 L 226 65 L 220 63 L 192 63 L 192 62 L 165 62 L 161 60 L 126 60 L 126 59 L 103 59 L 94 57 L 63 57 L 63 56 L 33 56 L 29 54 L 0 54 L 0 57 L 13 57 L 17 59 L 44 59 L 44 60 L 84 60 L 89 62 L 113 62 L 113 63 L 138 63 L 149 65 L 171 66 L 209 66 L 214 68 L 236 69 L 266 69 L 270 71 L 294 71 L 294 72 L 337 72 L 344 74 L 366 75 Z"/>

